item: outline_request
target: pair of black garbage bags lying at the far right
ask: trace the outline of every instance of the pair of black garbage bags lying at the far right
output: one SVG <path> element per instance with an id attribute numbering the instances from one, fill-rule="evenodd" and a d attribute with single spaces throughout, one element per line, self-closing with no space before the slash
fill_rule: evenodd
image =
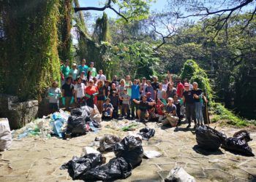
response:
<path id="1" fill-rule="evenodd" d="M 198 127 L 195 130 L 196 141 L 200 148 L 208 151 L 217 151 L 220 146 L 227 151 L 233 151 L 245 156 L 255 156 L 248 142 L 252 141 L 249 132 L 241 130 L 233 137 L 227 138 L 225 134 L 208 126 Z"/>

